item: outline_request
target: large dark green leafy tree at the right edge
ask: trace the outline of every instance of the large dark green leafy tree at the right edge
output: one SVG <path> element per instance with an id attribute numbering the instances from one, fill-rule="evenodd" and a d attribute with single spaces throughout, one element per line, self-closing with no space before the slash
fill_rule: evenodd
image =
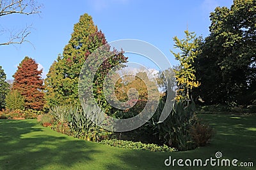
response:
<path id="1" fill-rule="evenodd" d="M 256 2 L 235 0 L 210 15 L 211 34 L 195 61 L 202 83 L 196 94 L 205 104 L 245 104 L 255 100 Z"/>

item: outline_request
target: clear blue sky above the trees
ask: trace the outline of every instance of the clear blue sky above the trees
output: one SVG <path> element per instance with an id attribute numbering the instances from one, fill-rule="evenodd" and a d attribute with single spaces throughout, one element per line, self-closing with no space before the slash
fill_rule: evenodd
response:
<path id="1" fill-rule="evenodd" d="M 80 15 L 92 15 L 95 25 L 104 32 L 107 40 L 140 39 L 161 50 L 172 65 L 178 64 L 170 53 L 174 36 L 184 38 L 184 30 L 197 36 L 209 34 L 209 14 L 216 6 L 227 6 L 232 0 L 197 1 L 142 1 L 142 0 L 76 0 L 38 1 L 44 5 L 39 15 L 6 15 L 0 18 L 0 29 L 19 31 L 32 25 L 28 40 L 32 43 L 0 46 L 0 66 L 7 79 L 17 70 L 25 56 L 32 57 L 48 72 L 58 53 L 67 45 L 73 26 Z M 9 35 L 0 34 L 3 42 Z M 129 56 L 128 56 L 129 57 Z M 136 57 L 130 60 L 138 61 Z M 150 67 L 150 64 L 145 64 Z"/>

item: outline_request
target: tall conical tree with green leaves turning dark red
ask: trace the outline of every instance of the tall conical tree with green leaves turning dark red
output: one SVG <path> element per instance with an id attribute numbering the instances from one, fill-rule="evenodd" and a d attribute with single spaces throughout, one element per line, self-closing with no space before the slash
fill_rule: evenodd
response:
<path id="1" fill-rule="evenodd" d="M 106 43 L 104 34 L 94 25 L 92 17 L 87 13 L 82 15 L 79 22 L 74 25 L 74 32 L 72 32 L 71 39 L 65 46 L 62 55 L 59 55 L 54 61 L 45 79 L 45 98 L 48 107 L 56 104 L 79 103 L 78 80 L 82 66 L 92 52 Z M 104 101 L 101 92 L 108 70 L 126 60 L 123 53 L 116 52 L 115 57 L 106 60 L 99 67 L 99 71 L 95 75 L 97 83 L 93 87 L 95 98 L 98 101 Z"/>

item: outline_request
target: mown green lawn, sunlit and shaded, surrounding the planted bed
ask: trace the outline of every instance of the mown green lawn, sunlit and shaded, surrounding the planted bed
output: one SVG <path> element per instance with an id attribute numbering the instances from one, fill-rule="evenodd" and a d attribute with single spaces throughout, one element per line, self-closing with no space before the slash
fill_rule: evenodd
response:
<path id="1" fill-rule="evenodd" d="M 225 159 L 253 162 L 256 169 L 256 115 L 198 115 L 216 131 L 210 145 L 187 152 L 127 150 L 82 141 L 42 127 L 36 120 L 0 120 L 0 169 L 177 169 L 164 160 Z M 228 169 L 228 167 L 181 167 Z M 229 169 L 235 169 L 229 167 Z M 238 168 L 237 169 L 246 169 Z"/>

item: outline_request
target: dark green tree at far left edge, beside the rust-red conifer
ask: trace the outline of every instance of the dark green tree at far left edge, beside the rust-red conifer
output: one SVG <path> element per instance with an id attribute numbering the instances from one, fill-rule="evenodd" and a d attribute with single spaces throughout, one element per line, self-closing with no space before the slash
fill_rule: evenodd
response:
<path id="1" fill-rule="evenodd" d="M 4 73 L 4 69 L 0 66 L 0 109 L 2 110 L 5 106 L 5 97 L 9 91 L 9 85 L 6 82 L 6 74 Z"/>

